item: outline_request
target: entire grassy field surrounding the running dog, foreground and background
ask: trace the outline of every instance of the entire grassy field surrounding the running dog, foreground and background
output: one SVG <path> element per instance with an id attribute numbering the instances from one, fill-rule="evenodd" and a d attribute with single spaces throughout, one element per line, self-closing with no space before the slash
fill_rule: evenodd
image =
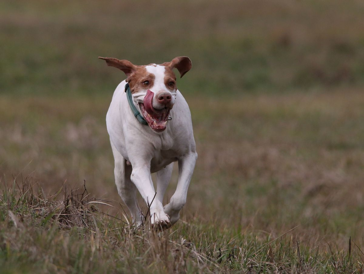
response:
<path id="1" fill-rule="evenodd" d="M 362 272 L 361 1 L 133 3 L 0 3 L 0 272 Z M 105 124 L 124 75 L 97 56 L 182 55 L 187 203 L 134 230 Z"/>

